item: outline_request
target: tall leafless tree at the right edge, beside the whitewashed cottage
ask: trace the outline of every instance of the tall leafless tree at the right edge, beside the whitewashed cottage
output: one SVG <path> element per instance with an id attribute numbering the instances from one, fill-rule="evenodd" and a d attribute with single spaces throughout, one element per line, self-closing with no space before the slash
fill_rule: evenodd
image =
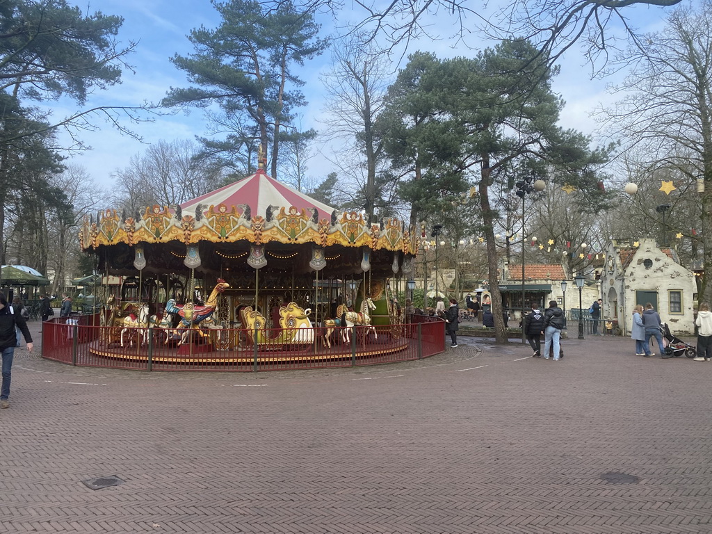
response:
<path id="1" fill-rule="evenodd" d="M 650 180 L 668 169 L 668 176 L 680 177 L 681 187 L 667 198 L 675 201 L 685 189 L 694 191 L 699 181 L 703 192 L 698 225 L 712 226 L 712 2 L 693 9 L 680 7 L 669 16 L 666 28 L 633 39 L 619 66 L 629 66 L 631 74 L 617 86 L 626 95 L 614 109 L 602 113 L 604 125 L 611 127 L 626 143 L 646 155 Z M 693 226 L 693 225 L 691 225 Z M 703 262 L 712 265 L 712 232 L 698 236 Z M 701 278 L 701 300 L 712 299 L 711 271 Z"/>

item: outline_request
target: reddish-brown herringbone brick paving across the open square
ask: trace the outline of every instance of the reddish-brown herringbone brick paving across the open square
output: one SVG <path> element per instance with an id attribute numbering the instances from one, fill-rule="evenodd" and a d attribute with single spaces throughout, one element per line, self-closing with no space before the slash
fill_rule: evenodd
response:
<path id="1" fill-rule="evenodd" d="M 627 338 L 569 340 L 561 362 L 461 339 L 260 375 L 19 350 L 0 532 L 712 532 L 712 362 L 636 357 Z M 125 482 L 81 483 L 110 475 Z"/>

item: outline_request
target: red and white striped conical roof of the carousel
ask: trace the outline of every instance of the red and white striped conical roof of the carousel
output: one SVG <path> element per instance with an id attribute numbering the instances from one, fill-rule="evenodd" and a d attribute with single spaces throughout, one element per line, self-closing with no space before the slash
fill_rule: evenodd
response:
<path id="1" fill-rule="evenodd" d="M 316 208 L 319 211 L 319 219 L 329 219 L 334 211 L 331 206 L 322 204 L 320 201 L 267 176 L 264 169 L 259 169 L 252 176 L 184 202 L 180 206 L 183 211 L 192 211 L 198 204 L 202 204 L 204 209 L 218 204 L 226 206 L 247 204 L 250 206 L 251 216 L 261 215 L 263 217 L 268 206 L 285 206 L 286 208 L 294 206 L 297 209 Z"/>

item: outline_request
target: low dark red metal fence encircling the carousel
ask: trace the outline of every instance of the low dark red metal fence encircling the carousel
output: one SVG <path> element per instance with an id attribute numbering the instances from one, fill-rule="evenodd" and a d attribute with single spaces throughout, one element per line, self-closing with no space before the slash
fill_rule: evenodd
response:
<path id="1" fill-rule="evenodd" d="M 445 350 L 444 323 L 273 330 L 98 326 L 98 315 L 43 323 L 42 356 L 70 365 L 141 371 L 303 370 L 418 360 Z M 325 336 L 330 333 L 327 342 Z M 123 336 L 123 340 L 122 340 Z M 331 346 L 329 346 L 331 345 Z"/>

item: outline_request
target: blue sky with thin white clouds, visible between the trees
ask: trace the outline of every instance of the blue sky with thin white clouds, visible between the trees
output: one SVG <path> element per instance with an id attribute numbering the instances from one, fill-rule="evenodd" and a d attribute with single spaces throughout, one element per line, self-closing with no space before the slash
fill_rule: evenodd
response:
<path id="1" fill-rule="evenodd" d="M 209 0 L 90 0 L 81 4 L 85 12 L 102 11 L 104 14 L 122 16 L 125 21 L 118 39 L 127 44 L 138 41 L 135 52 L 127 61 L 134 66 L 134 71 L 125 70 L 122 83 L 108 90 L 101 90 L 90 96 L 88 106 L 94 105 L 137 105 L 157 102 L 171 87 L 187 87 L 187 79 L 182 71 L 177 70 L 169 58 L 174 53 L 187 55 L 192 52 L 192 45 L 187 35 L 193 28 L 201 25 L 215 28 L 219 16 Z M 340 21 L 348 14 L 342 14 Z M 355 16 L 355 15 L 352 15 Z M 659 8 L 638 9 L 635 21 L 646 29 L 656 29 L 664 18 L 664 10 Z M 331 19 L 325 18 L 325 33 L 333 31 Z M 434 19 L 436 25 L 437 19 Z M 445 36 L 447 37 L 447 36 Z M 478 39 L 472 35 L 471 39 Z M 458 51 L 451 48 L 451 41 L 444 38 L 437 42 L 420 42 L 409 52 L 418 48 L 432 51 L 439 57 L 474 54 L 473 51 Z M 481 41 L 477 41 L 478 43 Z M 303 91 L 309 100 L 307 108 L 300 110 L 303 115 L 303 127 L 315 130 L 323 129 L 318 117 L 323 115 L 323 91 L 319 74 L 329 67 L 330 54 L 327 52 L 317 61 L 300 68 L 300 77 L 307 82 Z M 612 102 L 612 96 L 605 90 L 605 82 L 590 80 L 590 68 L 578 48 L 572 48 L 560 63 L 561 73 L 555 79 L 554 90 L 560 93 L 567 105 L 561 114 L 561 125 L 574 127 L 586 134 L 595 130 L 595 122 L 590 112 L 599 103 Z M 68 115 L 76 110 L 71 102 L 59 102 L 52 106 L 53 117 Z M 189 113 L 155 117 L 153 122 L 127 124 L 142 138 L 142 142 L 122 134 L 103 122 L 97 121 L 97 132 L 85 132 L 80 135 L 90 145 L 91 150 L 72 155 L 67 162 L 83 167 L 95 182 L 103 188 L 112 185 L 112 173 L 127 167 L 134 155 L 144 152 L 148 144 L 165 140 L 193 140 L 196 135 L 205 135 L 202 111 L 194 109 Z M 66 142 L 66 137 L 61 136 Z M 310 162 L 310 174 L 320 179 L 330 169 L 325 159 Z"/>

